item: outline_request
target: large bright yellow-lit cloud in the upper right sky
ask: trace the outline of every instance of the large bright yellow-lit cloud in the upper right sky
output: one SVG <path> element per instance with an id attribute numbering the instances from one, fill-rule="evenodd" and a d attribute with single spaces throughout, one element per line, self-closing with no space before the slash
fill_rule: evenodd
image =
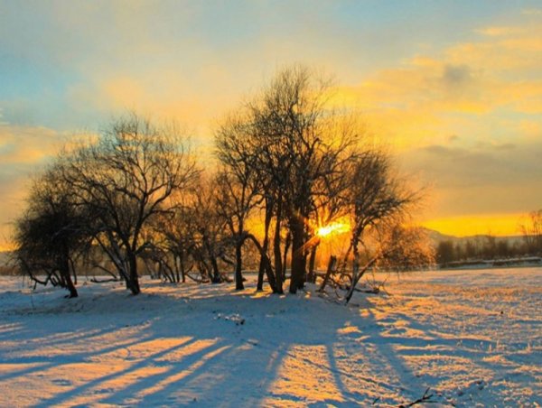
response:
<path id="1" fill-rule="evenodd" d="M 359 107 L 372 133 L 397 150 L 485 141 L 506 149 L 542 137 L 542 19 L 476 30 L 469 42 L 418 54 L 341 86 L 338 105 Z M 508 149 L 510 151 L 510 149 Z"/>

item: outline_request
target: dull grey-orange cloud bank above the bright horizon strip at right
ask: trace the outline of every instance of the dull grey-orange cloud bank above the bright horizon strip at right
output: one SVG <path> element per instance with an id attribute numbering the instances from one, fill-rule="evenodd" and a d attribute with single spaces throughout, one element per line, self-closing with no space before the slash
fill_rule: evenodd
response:
<path id="1" fill-rule="evenodd" d="M 399 155 L 402 167 L 423 174 L 435 207 L 427 217 L 519 213 L 542 202 L 542 139 L 532 144 L 435 144 Z"/>

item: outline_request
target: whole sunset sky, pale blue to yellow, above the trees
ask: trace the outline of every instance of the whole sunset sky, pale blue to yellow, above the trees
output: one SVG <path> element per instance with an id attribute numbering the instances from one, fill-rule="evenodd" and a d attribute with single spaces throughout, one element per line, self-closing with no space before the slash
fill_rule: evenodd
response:
<path id="1" fill-rule="evenodd" d="M 0 246 L 29 175 L 74 134 L 135 109 L 209 147 L 291 63 L 332 74 L 429 186 L 427 227 L 514 234 L 542 208 L 539 1 L 0 0 Z"/>

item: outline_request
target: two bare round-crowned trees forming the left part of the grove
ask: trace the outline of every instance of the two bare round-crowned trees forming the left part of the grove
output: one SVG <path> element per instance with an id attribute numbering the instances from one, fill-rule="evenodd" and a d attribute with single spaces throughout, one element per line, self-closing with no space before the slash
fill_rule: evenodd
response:
<path id="1" fill-rule="evenodd" d="M 77 259 L 99 252 L 126 288 L 139 293 L 137 258 L 152 246 L 150 227 L 173 209 L 173 194 L 197 176 L 174 130 L 126 116 L 98 142 L 62 153 L 34 181 L 29 207 L 17 223 L 23 271 L 45 272 L 66 283 L 73 297 L 70 269 L 74 273 Z"/>

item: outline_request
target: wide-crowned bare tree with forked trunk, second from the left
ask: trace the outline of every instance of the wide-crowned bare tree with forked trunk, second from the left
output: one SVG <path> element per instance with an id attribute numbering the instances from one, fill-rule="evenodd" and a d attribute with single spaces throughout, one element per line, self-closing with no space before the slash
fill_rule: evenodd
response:
<path id="1" fill-rule="evenodd" d="M 140 292 L 137 256 L 149 245 L 145 226 L 170 211 L 172 194 L 197 174 L 177 129 L 135 114 L 113 121 L 98 143 L 63 161 L 65 180 L 92 215 L 94 238 L 132 293 Z"/>

